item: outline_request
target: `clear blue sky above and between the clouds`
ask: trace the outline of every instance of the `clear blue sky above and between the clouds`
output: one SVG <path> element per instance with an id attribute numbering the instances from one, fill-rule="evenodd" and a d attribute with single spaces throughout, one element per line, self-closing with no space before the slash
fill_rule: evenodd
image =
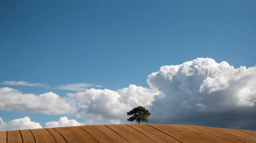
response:
<path id="1" fill-rule="evenodd" d="M 51 87 L 0 87 L 65 97 L 77 91 L 56 88 L 72 83 L 150 88 L 146 79 L 161 66 L 196 58 L 253 67 L 255 17 L 253 0 L 1 1 L 0 82 Z M 0 111 L 5 122 L 27 116 L 42 127 L 63 116 L 85 121 L 75 114 Z"/>

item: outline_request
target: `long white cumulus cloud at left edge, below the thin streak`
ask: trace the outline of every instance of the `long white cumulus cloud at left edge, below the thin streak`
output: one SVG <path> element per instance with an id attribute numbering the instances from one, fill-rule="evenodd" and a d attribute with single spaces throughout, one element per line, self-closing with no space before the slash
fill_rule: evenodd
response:
<path id="1" fill-rule="evenodd" d="M 49 115 L 71 114 L 77 110 L 74 100 L 61 98 L 53 92 L 37 96 L 31 93 L 22 94 L 21 91 L 9 87 L 0 88 L 0 110 L 11 111 L 12 109 Z"/>

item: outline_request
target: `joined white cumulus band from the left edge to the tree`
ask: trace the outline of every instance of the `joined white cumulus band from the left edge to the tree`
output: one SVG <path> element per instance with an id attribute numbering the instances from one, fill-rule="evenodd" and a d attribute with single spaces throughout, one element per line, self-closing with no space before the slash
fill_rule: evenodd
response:
<path id="1" fill-rule="evenodd" d="M 39 96 L 22 94 L 17 89 L 0 88 L 0 110 L 22 110 L 29 113 L 77 114 L 85 118 L 85 124 L 126 123 L 126 112 L 137 106 L 149 107 L 159 91 L 136 85 L 116 91 L 109 89 L 88 89 L 77 93 L 67 93 L 67 97 L 48 92 Z M 69 123 L 67 123 L 69 124 Z M 60 126 L 49 122 L 47 126 Z M 71 124 L 70 124 L 71 125 Z"/>

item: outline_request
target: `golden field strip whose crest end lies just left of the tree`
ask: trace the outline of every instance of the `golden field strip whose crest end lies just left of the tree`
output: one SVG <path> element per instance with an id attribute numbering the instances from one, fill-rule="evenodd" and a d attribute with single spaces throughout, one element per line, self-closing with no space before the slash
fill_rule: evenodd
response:
<path id="1" fill-rule="evenodd" d="M 144 136 L 140 132 L 128 127 L 127 125 L 106 125 L 108 128 L 113 130 L 114 132 L 118 133 L 122 136 L 125 140 L 130 143 L 140 143 L 140 142 L 147 142 L 147 143 L 154 143 L 151 139 Z"/>

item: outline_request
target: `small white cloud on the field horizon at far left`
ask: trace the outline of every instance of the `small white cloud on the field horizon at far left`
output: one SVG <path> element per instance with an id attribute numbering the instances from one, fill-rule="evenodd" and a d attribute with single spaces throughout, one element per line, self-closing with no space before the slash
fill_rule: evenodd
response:
<path id="1" fill-rule="evenodd" d="M 31 122 L 30 118 L 28 117 L 12 120 L 9 123 L 4 122 L 3 119 L 0 117 L 0 121 L 1 121 L 0 131 L 42 128 L 42 126 L 39 123 Z"/>

